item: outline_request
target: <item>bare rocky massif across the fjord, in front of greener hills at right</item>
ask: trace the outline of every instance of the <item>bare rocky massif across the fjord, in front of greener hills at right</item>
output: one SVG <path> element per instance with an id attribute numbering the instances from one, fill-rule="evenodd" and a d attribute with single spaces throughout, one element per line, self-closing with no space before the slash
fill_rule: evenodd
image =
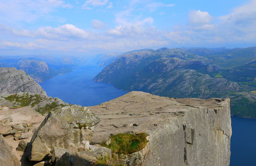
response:
<path id="1" fill-rule="evenodd" d="M 177 98 L 209 98 L 239 91 L 236 82 L 209 75 L 220 72 L 220 66 L 205 64 L 196 58 L 179 49 L 133 52 L 116 59 L 94 80 L 128 91 Z"/>

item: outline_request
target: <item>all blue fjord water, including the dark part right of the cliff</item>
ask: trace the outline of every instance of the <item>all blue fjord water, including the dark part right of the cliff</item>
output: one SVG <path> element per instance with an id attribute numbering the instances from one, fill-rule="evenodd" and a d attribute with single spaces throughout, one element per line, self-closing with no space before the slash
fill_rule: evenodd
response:
<path id="1" fill-rule="evenodd" d="M 124 95 L 110 84 L 93 82 L 99 66 L 81 66 L 73 72 L 42 82 L 48 96 L 82 106 L 97 105 Z M 231 166 L 256 165 L 256 119 L 232 117 Z"/>

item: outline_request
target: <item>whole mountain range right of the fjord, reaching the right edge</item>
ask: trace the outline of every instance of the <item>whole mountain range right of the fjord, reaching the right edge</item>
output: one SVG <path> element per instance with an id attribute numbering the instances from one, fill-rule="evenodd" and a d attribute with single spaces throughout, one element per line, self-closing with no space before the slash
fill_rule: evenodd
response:
<path id="1" fill-rule="evenodd" d="M 256 47 L 127 52 L 97 82 L 175 98 L 231 98 L 232 114 L 256 117 Z"/>

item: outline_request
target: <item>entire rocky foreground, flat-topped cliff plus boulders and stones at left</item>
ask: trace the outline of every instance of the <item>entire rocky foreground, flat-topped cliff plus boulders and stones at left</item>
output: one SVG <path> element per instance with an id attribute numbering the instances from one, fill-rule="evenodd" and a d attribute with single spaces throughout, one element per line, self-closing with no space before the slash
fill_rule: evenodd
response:
<path id="1" fill-rule="evenodd" d="M 0 98 L 0 165 L 229 165 L 229 99 L 132 91 L 94 107 L 60 104 L 44 109 L 45 117 L 38 112 L 54 99 L 35 102 L 32 95 L 35 101 L 19 108 L 19 96 Z M 17 118 L 26 111 L 30 119 Z"/>

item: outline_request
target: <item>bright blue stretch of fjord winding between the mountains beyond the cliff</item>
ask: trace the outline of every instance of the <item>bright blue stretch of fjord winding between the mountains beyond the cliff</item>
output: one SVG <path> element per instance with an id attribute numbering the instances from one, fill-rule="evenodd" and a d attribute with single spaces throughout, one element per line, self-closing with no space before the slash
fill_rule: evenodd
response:
<path id="1" fill-rule="evenodd" d="M 48 96 L 82 106 L 98 105 L 127 93 L 111 84 L 94 82 L 93 78 L 101 70 L 99 66 L 80 66 L 73 72 L 40 83 L 40 86 Z"/>

